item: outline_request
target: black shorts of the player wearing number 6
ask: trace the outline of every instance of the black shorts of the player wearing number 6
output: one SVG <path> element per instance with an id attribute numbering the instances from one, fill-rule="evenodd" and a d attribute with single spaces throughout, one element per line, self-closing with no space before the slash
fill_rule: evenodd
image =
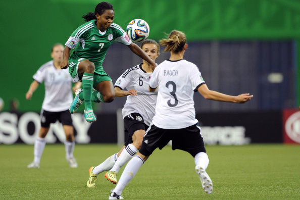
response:
<path id="1" fill-rule="evenodd" d="M 124 117 L 124 126 L 125 126 L 125 146 L 131 144 L 133 133 L 137 130 L 148 129 L 148 126 L 145 124 L 143 117 L 139 113 L 131 113 Z"/>

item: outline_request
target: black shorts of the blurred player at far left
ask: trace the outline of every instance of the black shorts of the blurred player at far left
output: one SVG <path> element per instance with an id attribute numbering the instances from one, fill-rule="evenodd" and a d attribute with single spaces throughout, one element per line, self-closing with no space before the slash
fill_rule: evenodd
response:
<path id="1" fill-rule="evenodd" d="M 49 111 L 41 111 L 41 127 L 48 128 L 51 123 L 55 123 L 57 120 L 61 122 L 63 125 L 73 126 L 72 117 L 69 110 L 61 111 L 61 112 L 49 112 Z"/>

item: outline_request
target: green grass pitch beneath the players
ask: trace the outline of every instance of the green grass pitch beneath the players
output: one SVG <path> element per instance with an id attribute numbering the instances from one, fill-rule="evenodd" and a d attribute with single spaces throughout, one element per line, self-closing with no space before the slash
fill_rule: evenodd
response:
<path id="1" fill-rule="evenodd" d="M 78 168 L 70 168 L 63 144 L 47 144 L 39 169 L 27 169 L 33 145 L 0 145 L 0 199 L 108 199 L 111 182 L 99 174 L 86 187 L 88 169 L 117 153 L 114 144 L 75 146 Z M 206 194 L 194 159 L 166 146 L 157 149 L 125 187 L 125 199 L 299 199 L 300 145 L 207 146 L 213 184 Z M 123 172 L 121 168 L 118 178 Z"/>

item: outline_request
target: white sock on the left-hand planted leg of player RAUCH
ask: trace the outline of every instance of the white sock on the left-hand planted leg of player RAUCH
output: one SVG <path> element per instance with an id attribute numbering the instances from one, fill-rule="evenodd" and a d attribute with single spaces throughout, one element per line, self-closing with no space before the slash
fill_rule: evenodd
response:
<path id="1" fill-rule="evenodd" d="M 117 186 L 113 190 L 116 194 L 121 195 L 124 187 L 128 185 L 131 179 L 135 176 L 138 169 L 144 164 L 144 160 L 135 155 L 126 165 Z"/>

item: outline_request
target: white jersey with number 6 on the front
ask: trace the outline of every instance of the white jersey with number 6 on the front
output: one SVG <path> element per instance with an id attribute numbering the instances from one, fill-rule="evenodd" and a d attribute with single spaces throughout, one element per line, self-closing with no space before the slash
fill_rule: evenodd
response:
<path id="1" fill-rule="evenodd" d="M 128 95 L 124 108 L 123 118 L 131 113 L 139 113 L 147 126 L 152 122 L 155 114 L 157 91 L 149 91 L 149 80 L 152 73 L 145 72 L 141 64 L 126 70 L 116 81 L 115 87 L 127 90 L 135 89 L 137 96 Z"/>

